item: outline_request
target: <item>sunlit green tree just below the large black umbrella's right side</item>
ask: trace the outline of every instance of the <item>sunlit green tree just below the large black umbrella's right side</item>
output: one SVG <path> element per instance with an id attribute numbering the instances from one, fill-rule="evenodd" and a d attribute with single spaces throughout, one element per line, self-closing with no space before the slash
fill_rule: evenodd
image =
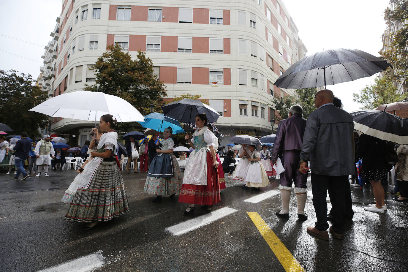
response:
<path id="1" fill-rule="evenodd" d="M 375 84 L 362 89 L 360 93 L 353 93 L 353 101 L 363 105 L 362 109 L 374 109 L 382 104 L 404 100 L 407 95 L 395 93 L 397 88 L 387 76 L 377 77 Z"/>

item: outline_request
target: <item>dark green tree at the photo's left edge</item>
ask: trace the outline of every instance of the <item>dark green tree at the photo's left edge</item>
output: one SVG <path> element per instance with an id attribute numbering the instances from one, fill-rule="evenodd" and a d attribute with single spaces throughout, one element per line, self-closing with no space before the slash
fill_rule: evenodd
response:
<path id="1" fill-rule="evenodd" d="M 16 134 L 26 131 L 37 137 L 40 136 L 38 128 L 47 127 L 47 115 L 28 111 L 47 100 L 47 92 L 34 84 L 29 74 L 0 70 L 0 120 Z"/>

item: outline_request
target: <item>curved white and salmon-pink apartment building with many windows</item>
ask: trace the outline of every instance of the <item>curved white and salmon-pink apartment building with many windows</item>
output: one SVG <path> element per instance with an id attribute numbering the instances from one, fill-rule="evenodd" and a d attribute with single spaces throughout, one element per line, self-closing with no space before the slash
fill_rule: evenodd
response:
<path id="1" fill-rule="evenodd" d="M 146 51 L 169 100 L 183 93 L 208 100 L 226 135 L 270 132 L 271 98 L 293 91 L 273 82 L 306 55 L 282 0 L 64 0 L 51 36 L 40 82 L 50 96 L 93 84 L 89 66 L 119 43 L 133 57 Z M 54 118 L 51 130 L 90 126 Z"/>

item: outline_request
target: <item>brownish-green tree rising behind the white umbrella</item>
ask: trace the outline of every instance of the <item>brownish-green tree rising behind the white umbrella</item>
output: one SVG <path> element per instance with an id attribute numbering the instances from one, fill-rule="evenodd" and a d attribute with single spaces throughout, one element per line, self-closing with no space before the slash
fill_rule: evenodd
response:
<path id="1" fill-rule="evenodd" d="M 122 51 L 118 44 L 106 46 L 105 53 L 98 57 L 95 66 L 96 82 L 92 86 L 85 84 L 84 90 L 99 91 L 116 95 L 132 104 L 142 115 L 150 113 L 149 106 L 155 105 L 155 111 L 160 112 L 163 97 L 167 96 L 165 85 L 153 71 L 153 62 L 146 53 L 137 51 L 137 57 L 132 60 L 129 52 Z M 137 124 L 120 124 L 118 129 L 127 130 Z"/>

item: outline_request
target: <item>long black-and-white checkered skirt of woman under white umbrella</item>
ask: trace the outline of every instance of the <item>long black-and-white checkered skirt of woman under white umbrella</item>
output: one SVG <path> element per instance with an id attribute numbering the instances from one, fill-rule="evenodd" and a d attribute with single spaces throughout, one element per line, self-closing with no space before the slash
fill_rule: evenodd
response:
<path id="1" fill-rule="evenodd" d="M 78 188 L 65 220 L 109 221 L 129 211 L 122 173 L 115 161 L 102 161 L 87 189 Z"/>

